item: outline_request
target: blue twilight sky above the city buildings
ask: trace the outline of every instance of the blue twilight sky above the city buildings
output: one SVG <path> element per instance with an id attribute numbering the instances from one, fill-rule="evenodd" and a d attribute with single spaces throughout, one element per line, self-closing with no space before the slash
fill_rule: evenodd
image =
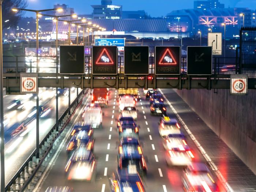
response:
<path id="1" fill-rule="evenodd" d="M 49 9 L 54 4 L 67 4 L 76 14 L 91 14 L 90 5 L 101 4 L 101 0 L 27 0 L 29 9 Z M 225 7 L 248 7 L 256 10 L 256 0 L 219 0 Z M 112 0 L 112 4 L 123 5 L 124 11 L 145 10 L 153 17 L 165 16 L 173 10 L 193 8 L 193 0 Z M 26 16 L 34 16 L 26 13 Z"/>

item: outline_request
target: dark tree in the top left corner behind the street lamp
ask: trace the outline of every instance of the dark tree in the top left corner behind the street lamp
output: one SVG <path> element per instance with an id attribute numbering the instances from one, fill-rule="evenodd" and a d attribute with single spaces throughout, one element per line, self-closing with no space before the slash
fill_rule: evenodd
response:
<path id="1" fill-rule="evenodd" d="M 4 0 L 2 4 L 2 22 L 3 29 L 8 27 L 16 27 L 24 11 L 13 12 L 12 8 L 26 8 L 27 0 Z M 8 21 L 7 21 L 8 20 Z M 7 22 L 5 22 L 7 21 Z"/>

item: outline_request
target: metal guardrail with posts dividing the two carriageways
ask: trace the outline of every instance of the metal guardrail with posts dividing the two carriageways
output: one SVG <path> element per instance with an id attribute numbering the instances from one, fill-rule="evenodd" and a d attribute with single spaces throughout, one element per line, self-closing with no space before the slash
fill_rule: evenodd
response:
<path id="1" fill-rule="evenodd" d="M 88 93 L 88 90 L 89 89 L 82 90 L 78 94 L 75 100 L 71 103 L 71 111 L 74 107 L 77 108 L 80 105 L 80 102 L 82 101 L 81 98 L 83 98 L 84 95 Z M 75 110 L 72 111 L 71 116 L 72 114 L 74 114 L 74 111 Z M 65 123 L 63 124 L 63 127 L 59 131 L 56 131 L 57 127 L 56 127 L 56 124 L 54 124 L 52 129 L 49 131 L 49 133 L 45 136 L 45 138 L 39 144 L 39 152 L 40 152 L 41 158 L 36 159 L 36 149 L 35 149 L 31 153 L 29 158 L 27 158 L 27 160 L 23 163 L 20 169 L 11 178 L 8 184 L 5 186 L 5 191 L 22 191 L 22 189 L 25 189 L 29 185 L 31 179 L 35 176 L 42 162 L 47 157 L 47 154 L 49 153 L 50 149 L 53 147 L 52 144 L 56 139 L 59 138 L 60 133 L 68 124 L 69 117 L 70 115 L 68 115 L 68 108 L 67 108 L 59 118 L 59 123 L 58 123 L 59 126 L 61 126 L 65 121 Z M 18 187 L 19 189 L 16 187 Z"/>

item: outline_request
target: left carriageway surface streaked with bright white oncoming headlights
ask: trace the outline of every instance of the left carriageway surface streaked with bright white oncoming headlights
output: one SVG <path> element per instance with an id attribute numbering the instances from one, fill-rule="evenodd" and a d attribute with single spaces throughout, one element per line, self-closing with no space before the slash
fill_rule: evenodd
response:
<path id="1" fill-rule="evenodd" d="M 80 92 L 80 89 L 79 89 Z M 39 140 L 41 141 L 56 122 L 56 89 L 39 89 L 39 106 L 49 105 L 52 110 L 44 117 L 39 118 Z M 35 96 L 31 95 L 5 95 L 4 96 L 4 121 L 5 121 L 5 184 L 11 180 L 14 174 L 26 161 L 35 149 L 35 118 L 33 108 L 36 105 Z M 71 102 L 76 97 L 76 89 L 71 89 Z M 8 106 L 14 99 L 20 99 L 24 103 L 24 109 L 9 110 Z M 68 91 L 65 95 L 59 96 L 59 117 L 68 107 Z M 11 136 L 21 123 L 26 123 L 26 130 L 16 136 Z"/>

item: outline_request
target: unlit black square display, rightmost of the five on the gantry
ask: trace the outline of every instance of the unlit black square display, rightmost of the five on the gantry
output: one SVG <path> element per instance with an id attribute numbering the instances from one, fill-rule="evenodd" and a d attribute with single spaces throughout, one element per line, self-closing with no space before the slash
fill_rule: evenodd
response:
<path id="1" fill-rule="evenodd" d="M 212 48 L 211 46 L 187 47 L 187 74 L 212 74 Z"/>

